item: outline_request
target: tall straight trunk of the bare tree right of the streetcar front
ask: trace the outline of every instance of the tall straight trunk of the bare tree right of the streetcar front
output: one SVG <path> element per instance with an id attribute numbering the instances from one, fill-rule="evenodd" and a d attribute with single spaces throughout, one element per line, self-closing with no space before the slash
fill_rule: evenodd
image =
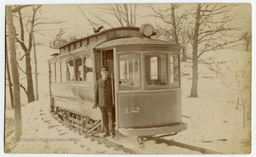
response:
<path id="1" fill-rule="evenodd" d="M 195 23 L 195 30 L 193 33 L 193 65 L 192 65 L 192 87 L 191 87 L 191 94 L 190 97 L 198 97 L 198 32 L 200 26 L 200 11 L 201 11 L 201 4 L 198 4 L 196 10 L 196 23 Z"/>

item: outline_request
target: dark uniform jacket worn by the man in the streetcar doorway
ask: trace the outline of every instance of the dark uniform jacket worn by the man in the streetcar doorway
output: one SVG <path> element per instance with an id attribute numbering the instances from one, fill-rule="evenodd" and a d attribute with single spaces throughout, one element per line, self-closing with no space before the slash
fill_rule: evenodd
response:
<path id="1" fill-rule="evenodd" d="M 112 82 L 110 77 L 107 77 L 105 81 L 103 81 L 102 78 L 97 80 L 95 85 L 95 104 L 98 104 L 100 107 L 112 107 L 113 104 L 111 89 Z"/>

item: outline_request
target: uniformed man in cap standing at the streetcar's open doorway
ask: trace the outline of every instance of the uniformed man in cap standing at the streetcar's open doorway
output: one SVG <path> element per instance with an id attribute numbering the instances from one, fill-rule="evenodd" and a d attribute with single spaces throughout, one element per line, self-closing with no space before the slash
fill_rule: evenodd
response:
<path id="1" fill-rule="evenodd" d="M 102 67 L 100 74 L 102 77 L 97 80 L 95 85 L 95 105 L 92 108 L 100 107 L 105 130 L 104 137 L 111 135 L 114 138 L 114 103 L 112 98 L 112 93 L 114 92 L 112 92 L 112 79 L 107 77 L 108 67 Z"/>

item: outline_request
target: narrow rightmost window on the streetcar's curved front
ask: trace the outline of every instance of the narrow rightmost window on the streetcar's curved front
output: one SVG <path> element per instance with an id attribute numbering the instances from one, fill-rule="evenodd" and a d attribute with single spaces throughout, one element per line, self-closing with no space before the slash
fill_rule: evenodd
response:
<path id="1" fill-rule="evenodd" d="M 178 66 L 178 54 L 173 53 L 170 55 L 170 75 L 171 75 L 171 87 L 179 87 L 179 66 Z"/>

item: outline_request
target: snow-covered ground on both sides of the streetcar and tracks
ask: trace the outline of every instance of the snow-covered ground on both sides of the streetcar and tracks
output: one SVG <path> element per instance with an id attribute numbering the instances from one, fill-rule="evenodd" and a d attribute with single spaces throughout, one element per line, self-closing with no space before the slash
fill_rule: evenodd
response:
<path id="1" fill-rule="evenodd" d="M 220 58 L 220 56 L 224 56 Z M 205 56 L 209 58 L 210 55 Z M 194 146 L 201 146 L 222 153 L 250 153 L 250 128 L 251 128 L 251 96 L 250 72 L 251 53 L 223 50 L 215 52 L 213 59 L 228 61 L 220 64 L 220 73 L 216 77 L 204 65 L 199 65 L 198 98 L 188 97 L 191 90 L 191 72 L 187 64 L 182 65 L 182 104 L 183 122 L 188 123 L 188 130 L 167 139 L 184 142 Z M 43 72 L 42 72 L 43 74 Z M 41 75 L 41 80 L 47 75 Z M 44 77 L 43 77 L 44 76 Z M 235 77 L 238 76 L 238 77 Z M 238 84 L 239 82 L 239 84 Z M 240 85 L 240 86 L 239 86 Z M 239 88 L 240 87 L 240 88 Z M 241 92 L 240 92 L 241 90 Z M 44 88 L 44 92 L 47 92 Z M 42 93 L 44 93 L 42 92 Z M 245 100 L 245 110 L 242 106 L 241 96 Z M 238 104 L 239 97 L 239 104 Z M 14 139 L 14 111 L 6 111 L 6 152 L 9 153 L 123 153 L 98 145 L 82 136 L 69 133 L 58 135 L 56 129 L 48 129 L 46 123 L 39 117 L 41 106 L 48 105 L 48 97 L 41 94 L 38 102 L 23 104 L 22 125 L 23 139 L 36 138 L 76 138 L 80 141 L 18 141 Z M 244 114 L 245 111 L 245 114 Z M 245 115 L 245 116 L 244 116 Z M 136 147 L 134 138 L 126 138 Z M 121 141 L 122 142 L 122 141 Z M 183 148 L 170 147 L 164 144 L 156 145 L 153 141 L 146 143 L 142 153 L 198 153 Z"/>

